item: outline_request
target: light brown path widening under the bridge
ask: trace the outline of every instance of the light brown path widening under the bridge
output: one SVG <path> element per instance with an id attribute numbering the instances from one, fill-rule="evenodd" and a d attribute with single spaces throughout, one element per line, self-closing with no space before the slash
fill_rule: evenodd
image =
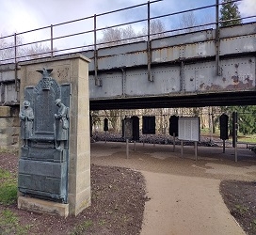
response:
<path id="1" fill-rule="evenodd" d="M 248 149 L 200 148 L 195 161 L 193 147 L 171 152 L 169 146 L 136 146 L 126 159 L 125 144 L 91 145 L 94 164 L 125 166 L 139 170 L 147 181 L 148 197 L 142 235 L 245 234 L 219 194 L 221 180 L 256 180 L 256 159 Z M 130 146 L 133 149 L 133 145 Z"/>

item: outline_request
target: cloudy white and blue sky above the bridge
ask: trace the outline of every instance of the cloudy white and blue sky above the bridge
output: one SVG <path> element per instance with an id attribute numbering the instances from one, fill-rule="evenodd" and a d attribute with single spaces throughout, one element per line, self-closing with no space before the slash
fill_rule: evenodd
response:
<path id="1" fill-rule="evenodd" d="M 0 0 L 0 35 L 6 36 L 14 32 L 24 32 L 50 24 L 59 24 L 79 18 L 100 14 L 118 8 L 126 8 L 133 5 L 147 3 L 147 0 Z M 152 4 L 151 14 L 161 15 L 184 10 L 187 8 L 198 8 L 206 5 L 214 5 L 216 0 L 163 0 Z M 239 3 L 242 16 L 256 15 L 256 0 L 243 0 Z M 215 19 L 214 8 L 209 11 Z M 209 17 L 207 12 L 199 12 L 197 18 Z M 97 21 L 99 27 L 111 24 L 120 24 L 127 21 L 146 18 L 147 8 L 141 7 L 101 17 Z M 177 24 L 170 21 L 168 24 Z M 55 37 L 63 34 L 87 31 L 93 29 L 92 21 L 81 24 L 70 24 L 56 27 Z M 47 35 L 47 37 L 46 37 Z M 49 37 L 49 30 L 29 35 L 28 38 L 41 39 Z M 24 38 L 26 36 L 24 35 Z"/>

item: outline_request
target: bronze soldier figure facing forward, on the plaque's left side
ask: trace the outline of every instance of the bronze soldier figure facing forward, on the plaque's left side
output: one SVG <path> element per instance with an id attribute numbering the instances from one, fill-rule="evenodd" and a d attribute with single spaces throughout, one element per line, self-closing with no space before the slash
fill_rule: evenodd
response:
<path id="1" fill-rule="evenodd" d="M 28 139 L 33 134 L 34 112 L 30 107 L 30 102 L 24 101 L 23 108 L 19 114 L 21 120 L 21 138 L 24 140 L 23 146 L 28 146 Z"/>

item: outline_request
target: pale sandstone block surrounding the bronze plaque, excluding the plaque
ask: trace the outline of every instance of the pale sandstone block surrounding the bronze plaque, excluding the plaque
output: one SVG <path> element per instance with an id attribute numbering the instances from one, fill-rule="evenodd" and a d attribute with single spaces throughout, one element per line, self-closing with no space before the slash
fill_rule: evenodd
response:
<path id="1" fill-rule="evenodd" d="M 42 68 L 53 69 L 51 76 L 59 85 L 71 84 L 68 204 L 66 205 L 68 205 L 69 214 L 74 215 L 90 205 L 88 62 L 87 57 L 77 54 L 21 63 L 21 103 L 24 102 L 24 87 L 37 86 L 41 78 L 37 71 L 42 70 Z M 41 200 L 40 207 L 40 199 L 36 200 L 37 208 L 43 208 L 45 201 Z M 25 210 L 29 210 L 30 206 L 35 204 L 34 199 L 30 198 L 20 197 L 19 201 L 19 207 Z M 24 201 L 25 203 L 22 203 Z M 29 201 L 32 203 L 30 206 Z M 63 210 L 62 207 L 59 208 Z M 59 212 L 59 214 L 61 215 L 62 212 Z M 66 212 L 64 214 L 64 216 L 67 216 Z"/>

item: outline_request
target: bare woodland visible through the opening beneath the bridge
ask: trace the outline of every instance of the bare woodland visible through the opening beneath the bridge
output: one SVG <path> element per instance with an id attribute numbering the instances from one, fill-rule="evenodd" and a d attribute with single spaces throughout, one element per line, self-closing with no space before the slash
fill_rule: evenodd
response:
<path id="1" fill-rule="evenodd" d="M 167 145 L 169 152 L 173 151 L 174 145 L 178 146 L 178 151 L 181 151 L 181 140 L 179 137 L 175 137 L 169 134 L 169 118 L 173 115 L 178 117 L 200 117 L 200 142 L 199 142 L 199 156 L 201 148 L 216 148 L 219 153 L 223 153 L 223 140 L 220 139 L 219 133 L 219 117 L 223 114 L 220 107 L 192 107 L 192 108 L 159 108 L 159 109 L 122 109 L 122 110 L 104 110 L 104 111 L 91 111 L 93 120 L 92 126 L 92 138 L 94 141 L 104 142 L 125 142 L 122 131 L 122 119 L 138 117 L 139 118 L 139 140 L 137 143 L 153 146 Z M 232 112 L 227 113 L 229 115 L 229 122 L 232 123 Z M 238 117 L 239 117 L 238 113 Z M 242 115 L 242 114 L 241 114 Z M 142 133 L 142 119 L 143 117 L 155 117 L 155 134 L 143 134 Z M 104 132 L 104 118 L 108 119 L 108 132 Z M 112 123 L 113 121 L 113 123 Z M 239 126 L 239 121 L 238 121 Z M 240 136 L 239 136 L 240 135 Z M 255 143 L 251 139 L 244 137 L 243 133 L 238 134 L 238 161 L 247 159 L 248 156 L 242 156 L 239 153 L 239 149 L 253 149 Z M 135 142 L 133 140 L 130 141 Z M 194 149 L 194 142 L 185 142 L 185 148 Z M 189 146 L 189 147 L 187 147 Z M 130 149 L 134 149 L 133 144 L 130 144 Z M 221 158 L 235 159 L 235 149 L 232 147 L 232 133 L 229 131 L 229 139 L 225 141 L 225 148 L 232 149 L 232 153 L 223 153 Z M 175 150 L 177 151 L 177 149 Z M 224 150 L 225 151 L 225 150 Z M 125 153 L 124 153 L 125 154 Z M 194 153 L 193 153 L 194 154 Z M 216 154 L 218 158 L 218 154 Z M 250 156 L 251 158 L 251 156 Z M 200 157 L 199 157 L 200 159 Z"/>

